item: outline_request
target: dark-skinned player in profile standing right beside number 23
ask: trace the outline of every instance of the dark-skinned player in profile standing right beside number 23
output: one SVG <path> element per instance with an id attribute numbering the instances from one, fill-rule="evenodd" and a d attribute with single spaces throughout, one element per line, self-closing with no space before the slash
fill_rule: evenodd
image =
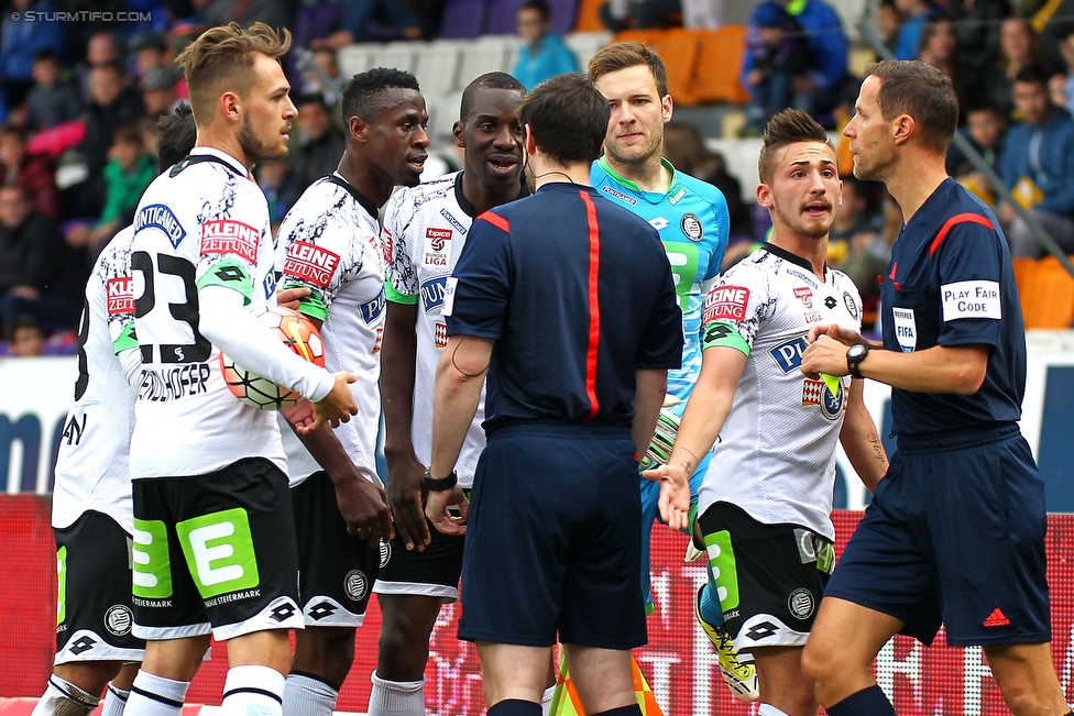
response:
<path id="1" fill-rule="evenodd" d="M 351 385 L 358 417 L 335 430 L 342 445 L 335 465 L 322 470 L 284 432 L 306 619 L 295 635 L 286 716 L 330 716 L 335 709 L 354 660 L 354 632 L 376 579 L 381 539 L 392 538 L 374 454 L 384 331 L 376 214 L 396 185 L 418 185 L 429 145 L 425 99 L 409 73 L 376 68 L 355 75 L 343 87 L 342 112 L 348 144 L 339 168 L 306 189 L 278 231 L 287 251 L 283 284 L 310 290 L 299 310 L 321 327 L 326 364 L 359 376 Z"/>

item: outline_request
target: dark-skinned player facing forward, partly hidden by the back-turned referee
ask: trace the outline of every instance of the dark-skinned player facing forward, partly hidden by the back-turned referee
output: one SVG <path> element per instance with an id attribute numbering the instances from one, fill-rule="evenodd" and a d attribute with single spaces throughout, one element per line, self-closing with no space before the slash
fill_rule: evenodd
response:
<path id="1" fill-rule="evenodd" d="M 440 605 L 459 598 L 465 538 L 431 529 L 421 499 L 432 444 L 432 384 L 447 342 L 440 308 L 473 219 L 524 191 L 522 128 L 515 118 L 524 93 L 505 73 L 470 82 L 453 128 L 456 144 L 465 152 L 463 169 L 399 191 L 384 217 L 384 455 L 398 535 L 373 586 L 383 623 L 372 716 L 425 714 L 429 636 Z M 482 419 L 479 408 L 459 459 L 459 484 L 468 488 L 485 444 Z"/>

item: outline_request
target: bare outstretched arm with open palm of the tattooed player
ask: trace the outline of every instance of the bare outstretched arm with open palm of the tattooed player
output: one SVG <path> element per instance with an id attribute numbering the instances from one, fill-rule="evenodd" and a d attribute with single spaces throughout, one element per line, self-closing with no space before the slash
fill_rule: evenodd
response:
<path id="1" fill-rule="evenodd" d="M 689 522 L 690 475 L 723 429 L 745 366 L 746 354 L 738 349 L 714 345 L 705 350 L 668 464 L 642 473 L 646 480 L 661 482 L 660 518 L 676 531 Z"/>

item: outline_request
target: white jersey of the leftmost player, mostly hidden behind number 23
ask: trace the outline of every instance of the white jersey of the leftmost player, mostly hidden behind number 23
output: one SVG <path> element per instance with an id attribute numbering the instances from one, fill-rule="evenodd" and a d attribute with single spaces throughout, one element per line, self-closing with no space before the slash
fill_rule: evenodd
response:
<path id="1" fill-rule="evenodd" d="M 108 515 L 133 532 L 130 449 L 134 389 L 117 354 L 136 349 L 128 227 L 101 250 L 86 284 L 78 331 L 78 378 L 56 459 L 52 526 L 70 527 L 84 513 Z"/>

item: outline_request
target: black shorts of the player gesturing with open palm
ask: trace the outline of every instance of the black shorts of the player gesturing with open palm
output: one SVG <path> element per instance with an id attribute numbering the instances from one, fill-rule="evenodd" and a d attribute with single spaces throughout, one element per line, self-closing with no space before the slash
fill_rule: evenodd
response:
<path id="1" fill-rule="evenodd" d="M 831 540 L 758 522 L 731 503 L 714 503 L 698 525 L 735 649 L 804 646 L 835 563 Z"/>

